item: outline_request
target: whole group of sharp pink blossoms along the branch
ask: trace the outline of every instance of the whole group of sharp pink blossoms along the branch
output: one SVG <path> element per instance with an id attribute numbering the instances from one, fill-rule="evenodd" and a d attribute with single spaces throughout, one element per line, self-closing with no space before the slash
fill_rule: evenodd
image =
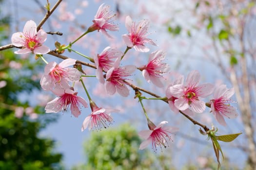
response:
<path id="1" fill-rule="evenodd" d="M 90 26 L 86 33 L 92 31 L 100 31 L 101 33 L 111 37 L 107 30 L 117 31 L 118 27 L 113 23 L 113 18 L 116 16 L 110 10 L 109 6 L 100 5 L 98 12 L 93 20 L 93 25 Z M 130 16 L 125 19 L 125 27 L 128 34 L 123 34 L 122 39 L 127 45 L 127 51 L 134 48 L 139 52 L 148 52 L 150 49 L 145 44 L 157 46 L 153 40 L 147 36 L 149 28 L 149 20 L 141 20 L 138 23 L 134 22 Z M 46 54 L 50 49 L 42 45 L 46 40 L 46 33 L 40 29 L 37 32 L 36 23 L 32 20 L 28 21 L 23 33 L 15 33 L 12 36 L 12 43 L 17 47 L 21 47 L 16 53 Z M 78 40 L 78 39 L 77 39 Z M 76 40 L 76 41 L 77 41 Z M 75 42 L 76 42 L 75 41 Z M 64 49 L 61 49 L 62 51 Z M 127 52 L 126 51 L 126 52 Z M 126 53 L 125 52 L 125 53 Z M 136 67 L 133 65 L 120 66 L 120 62 L 125 53 L 117 49 L 106 47 L 101 53 L 90 59 L 96 66 L 96 77 L 101 84 L 104 84 L 105 90 L 109 95 L 115 93 L 123 97 L 129 96 L 129 79 L 137 69 L 142 72 L 143 77 L 147 82 L 152 82 L 158 87 L 164 87 L 163 73 L 169 69 L 165 59 L 165 51 L 153 51 L 149 55 L 148 63 Z M 82 124 L 81 131 L 86 128 L 100 130 L 108 127 L 112 123 L 113 118 L 111 112 L 117 112 L 116 109 L 106 109 L 98 107 L 90 98 L 85 85 L 81 80 L 82 72 L 77 68 L 71 68 L 76 64 L 75 59 L 65 59 L 61 63 L 47 63 L 44 69 L 44 74 L 40 80 L 42 89 L 52 91 L 56 96 L 54 100 L 48 102 L 45 107 L 46 113 L 57 113 L 66 111 L 70 108 L 71 113 L 75 117 L 81 114 L 81 105 L 88 107 L 87 102 L 78 96 L 78 92 L 74 90 L 74 82 L 81 81 L 86 94 L 88 96 L 91 114 L 87 116 Z M 85 76 L 85 75 L 84 75 Z M 188 116 L 194 116 L 196 113 L 205 111 L 206 106 L 211 107 L 211 112 L 221 125 L 226 125 L 223 117 L 235 118 L 236 110 L 229 103 L 232 102 L 230 97 L 234 94 L 234 89 L 228 89 L 226 85 L 220 85 L 217 88 L 211 84 L 199 85 L 200 74 L 197 70 L 191 71 L 184 83 L 184 76 L 180 76 L 166 89 L 166 98 L 169 106 L 174 113 L 182 112 Z M 70 83 L 73 82 L 73 86 Z M 214 92 L 215 89 L 215 92 Z M 214 92 L 213 99 L 210 102 L 203 102 L 201 98 L 209 97 Z M 145 113 L 146 114 L 146 113 Z M 139 136 L 146 139 L 143 141 L 139 149 L 144 149 L 148 144 L 152 144 L 154 151 L 157 146 L 166 148 L 169 146 L 168 140 L 172 140 L 171 134 L 178 131 L 175 127 L 164 127 L 167 121 L 162 121 L 156 126 L 147 117 L 149 130 L 141 131 Z"/>

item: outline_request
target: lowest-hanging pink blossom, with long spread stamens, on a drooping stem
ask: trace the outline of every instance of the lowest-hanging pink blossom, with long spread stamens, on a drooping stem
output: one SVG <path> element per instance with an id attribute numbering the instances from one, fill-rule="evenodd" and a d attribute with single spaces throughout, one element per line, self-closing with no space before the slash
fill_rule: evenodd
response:
<path id="1" fill-rule="evenodd" d="M 167 121 L 162 121 L 158 126 L 154 125 L 150 127 L 150 130 L 144 130 L 140 131 L 138 135 L 142 137 L 143 139 L 146 139 L 143 141 L 139 149 L 145 149 L 150 143 L 152 144 L 153 150 L 157 151 L 157 146 L 160 146 L 162 150 L 162 146 L 166 148 L 169 146 L 168 140 L 172 140 L 171 136 L 169 134 L 175 133 L 178 131 L 178 128 L 176 127 L 163 127 L 165 123 L 168 123 Z"/>

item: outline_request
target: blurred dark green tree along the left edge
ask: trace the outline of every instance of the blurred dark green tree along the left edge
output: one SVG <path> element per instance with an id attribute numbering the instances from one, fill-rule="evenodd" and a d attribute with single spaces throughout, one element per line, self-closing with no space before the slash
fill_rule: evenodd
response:
<path id="1" fill-rule="evenodd" d="M 0 15 L 0 44 L 9 38 L 9 23 L 9 16 Z M 39 132 L 56 116 L 40 116 L 44 113 L 42 106 L 31 107 L 27 101 L 33 91 L 39 92 L 41 64 L 31 62 L 31 57 L 21 58 L 11 50 L 0 52 L 1 170 L 62 169 L 62 154 L 53 152 L 55 141 L 39 137 Z"/>

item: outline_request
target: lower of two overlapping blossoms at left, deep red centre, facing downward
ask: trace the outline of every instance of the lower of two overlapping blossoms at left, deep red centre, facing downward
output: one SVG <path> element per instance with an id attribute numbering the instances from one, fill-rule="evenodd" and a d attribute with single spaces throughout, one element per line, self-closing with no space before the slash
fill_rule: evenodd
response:
<path id="1" fill-rule="evenodd" d="M 77 118 L 81 114 L 80 103 L 84 107 L 88 107 L 87 102 L 82 97 L 77 96 L 78 93 L 73 89 L 55 89 L 53 93 L 59 97 L 46 104 L 46 113 L 66 111 L 70 107 L 72 115 Z"/>

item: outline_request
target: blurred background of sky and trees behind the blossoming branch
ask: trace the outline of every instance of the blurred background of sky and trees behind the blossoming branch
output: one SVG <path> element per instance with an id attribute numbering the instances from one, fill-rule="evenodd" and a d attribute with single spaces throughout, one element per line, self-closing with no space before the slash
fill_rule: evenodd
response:
<path id="1" fill-rule="evenodd" d="M 57 0 L 49 0 L 51 7 Z M 46 0 L 0 0 L 0 46 L 11 43 L 11 35 L 22 32 L 27 20 L 37 24 L 46 14 Z M 68 44 L 83 34 L 102 4 L 111 6 L 117 13 L 114 21 L 118 32 L 108 32 L 114 38 L 93 32 L 72 47 L 93 57 L 105 47 L 124 51 L 121 39 L 127 34 L 126 16 L 134 21 L 150 19 L 149 38 L 158 47 L 148 45 L 150 52 L 167 51 L 166 62 L 170 73 L 164 78 L 164 88 L 144 81 L 140 72 L 131 76 L 134 84 L 165 96 L 165 90 L 179 75 L 194 69 L 201 74 L 201 83 L 226 84 L 235 87 L 239 116 L 226 119 L 227 126 L 217 123 L 210 109 L 194 119 L 218 128 L 218 134 L 243 132 L 231 143 L 220 142 L 225 159 L 222 170 L 256 169 L 256 2 L 254 0 L 62 0 L 53 15 L 43 25 L 47 35 L 45 44 L 55 49 L 55 41 Z M 109 96 L 95 78 L 84 82 L 98 106 L 116 108 L 113 124 L 101 131 L 81 132 L 81 125 L 91 111 L 82 108 L 79 118 L 70 111 L 44 112 L 47 102 L 55 98 L 40 88 L 44 63 L 35 56 L 16 55 L 9 49 L 0 51 L 0 170 L 216 170 L 217 161 L 212 142 L 198 133 L 199 127 L 182 115 L 174 114 L 166 103 L 144 101 L 151 120 L 158 124 L 166 120 L 178 127 L 170 147 L 154 153 L 149 146 L 138 150 L 140 130 L 147 122 L 138 100 L 130 96 Z M 149 53 L 128 51 L 122 65 L 145 65 Z M 87 62 L 76 53 L 63 55 Z M 45 59 L 61 59 L 44 55 Z M 83 67 L 88 75 L 95 70 Z M 81 86 L 79 96 L 87 100 Z"/>

